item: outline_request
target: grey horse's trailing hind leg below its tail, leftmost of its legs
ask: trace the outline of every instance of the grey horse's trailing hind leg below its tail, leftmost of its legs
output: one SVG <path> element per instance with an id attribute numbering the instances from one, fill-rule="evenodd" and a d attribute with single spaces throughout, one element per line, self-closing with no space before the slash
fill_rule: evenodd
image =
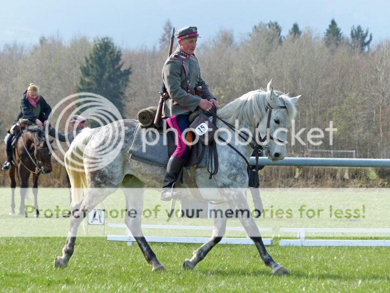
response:
<path id="1" fill-rule="evenodd" d="M 102 202 L 110 193 L 112 192 L 107 189 L 88 189 L 81 202 L 72 208 L 68 237 L 66 239 L 65 246 L 62 249 L 62 256 L 57 256 L 54 260 L 55 268 L 65 268 L 68 265 L 69 259 L 73 255 L 75 249 L 79 225 L 88 213 Z"/>

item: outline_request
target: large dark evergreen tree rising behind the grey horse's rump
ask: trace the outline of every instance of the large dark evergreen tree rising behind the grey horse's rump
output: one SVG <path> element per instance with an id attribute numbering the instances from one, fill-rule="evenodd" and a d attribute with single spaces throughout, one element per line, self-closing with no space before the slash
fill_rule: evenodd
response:
<path id="1" fill-rule="evenodd" d="M 112 39 L 95 40 L 89 57 L 85 57 L 85 64 L 80 66 L 81 77 L 76 92 L 91 92 L 105 97 L 123 116 L 123 100 L 131 67 L 122 69 L 121 58 L 122 52 Z"/>

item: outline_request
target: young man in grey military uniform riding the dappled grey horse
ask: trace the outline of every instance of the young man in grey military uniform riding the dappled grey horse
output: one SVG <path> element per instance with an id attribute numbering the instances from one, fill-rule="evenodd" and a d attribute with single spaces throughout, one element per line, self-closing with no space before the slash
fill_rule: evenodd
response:
<path id="1" fill-rule="evenodd" d="M 176 31 L 176 37 L 178 47 L 162 69 L 162 78 L 169 94 L 163 116 L 168 126 L 175 130 L 176 136 L 176 149 L 168 161 L 161 192 L 161 199 L 166 201 L 178 198 L 178 191 L 175 191 L 174 185 L 190 152 L 190 146 L 187 144 L 192 140 L 189 137 L 190 132 L 187 132 L 186 139 L 182 137 L 183 131 L 189 126 L 190 113 L 198 107 L 206 111 L 213 106 L 219 107 L 215 96 L 201 78 L 198 60 L 194 55 L 196 41 L 199 38 L 197 28 L 183 27 Z M 195 94 L 195 87 L 201 87 L 199 95 Z"/>

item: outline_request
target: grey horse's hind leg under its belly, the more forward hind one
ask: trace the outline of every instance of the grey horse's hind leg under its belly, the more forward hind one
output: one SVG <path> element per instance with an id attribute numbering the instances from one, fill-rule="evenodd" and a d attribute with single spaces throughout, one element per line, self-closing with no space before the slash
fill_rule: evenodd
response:
<path id="1" fill-rule="evenodd" d="M 165 271 L 164 266 L 158 261 L 156 254 L 152 251 L 141 230 L 143 191 L 140 188 L 133 188 L 130 193 L 129 188 L 127 188 L 123 189 L 123 192 L 126 197 L 127 212 L 125 215 L 125 223 L 127 227 L 136 239 L 146 261 L 153 266 L 152 271 Z"/>

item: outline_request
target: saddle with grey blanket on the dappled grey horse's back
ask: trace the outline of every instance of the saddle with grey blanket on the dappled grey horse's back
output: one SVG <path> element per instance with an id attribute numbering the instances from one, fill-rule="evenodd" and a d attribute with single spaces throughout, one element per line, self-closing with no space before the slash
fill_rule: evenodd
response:
<path id="1" fill-rule="evenodd" d="M 164 121 L 165 123 L 165 121 Z M 162 129 L 166 127 L 162 127 Z M 171 136 L 171 137 L 168 137 Z M 130 158 L 136 161 L 166 167 L 170 156 L 176 149 L 173 133 L 163 133 L 155 128 L 143 128 L 137 124 L 134 131 L 133 143 L 128 153 Z M 189 157 L 185 167 L 196 165 L 196 167 L 207 166 L 208 146 L 204 146 L 200 141 L 191 146 Z"/>

